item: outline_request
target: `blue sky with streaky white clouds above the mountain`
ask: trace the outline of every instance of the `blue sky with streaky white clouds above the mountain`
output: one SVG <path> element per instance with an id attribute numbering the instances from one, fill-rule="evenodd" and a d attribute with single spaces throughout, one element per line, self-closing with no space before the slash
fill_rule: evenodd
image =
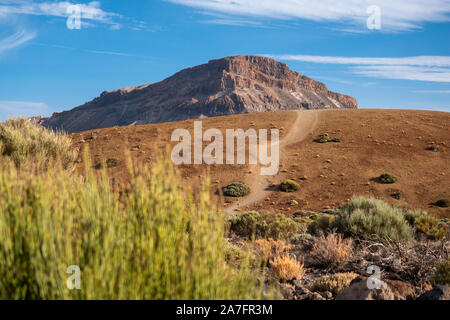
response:
<path id="1" fill-rule="evenodd" d="M 240 54 L 362 108 L 450 111 L 450 0 L 0 0 L 0 120 Z"/>

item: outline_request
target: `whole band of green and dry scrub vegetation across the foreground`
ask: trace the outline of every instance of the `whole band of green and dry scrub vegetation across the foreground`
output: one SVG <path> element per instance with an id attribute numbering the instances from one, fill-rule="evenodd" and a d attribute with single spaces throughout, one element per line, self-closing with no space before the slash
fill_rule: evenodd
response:
<path id="1" fill-rule="evenodd" d="M 420 210 L 354 197 L 225 217 L 208 181 L 194 200 L 169 161 L 127 163 L 124 192 L 107 175 L 117 161 L 95 171 L 86 152 L 82 174 L 68 170 L 63 134 L 9 121 L 0 147 L 0 299 L 331 299 L 374 264 L 417 288 L 449 283 L 448 223 Z M 72 265 L 80 290 L 66 285 Z"/>

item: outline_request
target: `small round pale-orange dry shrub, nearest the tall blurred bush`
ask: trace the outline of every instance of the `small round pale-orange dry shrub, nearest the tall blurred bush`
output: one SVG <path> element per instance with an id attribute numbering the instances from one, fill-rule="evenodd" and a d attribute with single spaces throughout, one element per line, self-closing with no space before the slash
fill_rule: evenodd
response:
<path id="1" fill-rule="evenodd" d="M 300 280 L 304 277 L 306 270 L 304 264 L 285 254 L 270 260 L 272 274 L 281 282 L 294 279 Z"/>

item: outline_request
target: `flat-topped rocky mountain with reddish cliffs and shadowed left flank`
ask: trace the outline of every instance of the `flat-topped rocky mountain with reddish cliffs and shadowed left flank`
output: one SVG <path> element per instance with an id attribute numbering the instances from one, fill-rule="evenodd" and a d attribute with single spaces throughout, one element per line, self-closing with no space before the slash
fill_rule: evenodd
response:
<path id="1" fill-rule="evenodd" d="M 182 70 L 158 83 L 103 92 L 40 123 L 72 133 L 237 113 L 357 107 L 356 99 L 331 92 L 283 63 L 236 56 Z"/>

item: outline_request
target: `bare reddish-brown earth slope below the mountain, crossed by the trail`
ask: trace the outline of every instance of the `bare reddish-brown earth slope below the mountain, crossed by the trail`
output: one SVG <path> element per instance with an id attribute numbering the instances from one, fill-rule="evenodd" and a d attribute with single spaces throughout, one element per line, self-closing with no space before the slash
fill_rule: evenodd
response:
<path id="1" fill-rule="evenodd" d="M 298 210 L 333 208 L 352 195 L 382 197 L 392 204 L 424 209 L 450 218 L 449 208 L 432 203 L 450 197 L 450 114 L 404 110 L 311 110 L 279 111 L 202 119 L 203 130 L 217 128 L 279 128 L 280 171 L 260 176 L 258 166 L 182 165 L 184 185 L 194 189 L 209 170 L 212 191 L 231 182 L 249 184 L 252 193 L 235 200 L 217 197 L 232 214 L 243 210 L 265 210 L 287 215 Z M 173 130 L 193 132 L 193 120 L 128 127 L 113 127 L 72 135 L 75 147 L 89 145 L 93 162 L 118 158 L 108 169 L 121 188 L 128 184 L 126 154 L 151 164 L 162 151 L 173 147 Z M 315 142 L 321 134 L 338 137 L 340 143 Z M 204 144 L 206 145 L 206 144 Z M 435 145 L 440 152 L 426 150 Z M 83 165 L 80 163 L 80 167 Z M 398 178 L 392 185 L 374 181 L 382 173 Z M 284 179 L 300 184 L 300 191 L 279 192 Z M 401 200 L 391 195 L 400 192 Z M 291 205 L 291 200 L 298 204 Z"/>

